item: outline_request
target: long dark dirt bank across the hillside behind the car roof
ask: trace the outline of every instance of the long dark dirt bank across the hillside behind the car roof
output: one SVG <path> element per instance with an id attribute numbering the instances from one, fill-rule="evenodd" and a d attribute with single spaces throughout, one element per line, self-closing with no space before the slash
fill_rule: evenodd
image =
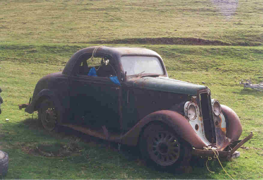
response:
<path id="1" fill-rule="evenodd" d="M 126 38 L 112 41 L 91 41 L 94 44 L 181 44 L 181 45 L 220 45 L 231 46 L 231 43 L 201 38 Z"/>

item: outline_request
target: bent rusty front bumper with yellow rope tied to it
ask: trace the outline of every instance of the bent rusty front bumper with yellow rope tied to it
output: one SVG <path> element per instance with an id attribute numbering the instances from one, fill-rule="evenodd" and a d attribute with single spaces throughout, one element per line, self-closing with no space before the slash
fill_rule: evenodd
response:
<path id="1" fill-rule="evenodd" d="M 226 149 L 230 149 L 228 151 L 221 151 L 221 150 L 217 150 L 218 152 L 218 156 L 219 157 L 225 157 L 225 158 L 230 158 L 232 156 L 232 154 L 238 149 L 240 148 L 245 142 L 247 142 L 249 139 L 251 139 L 253 136 L 252 131 L 250 132 L 249 136 L 247 136 L 246 138 L 244 138 L 243 140 L 238 140 L 238 141 L 233 141 L 231 142 L 228 147 Z M 201 157 L 207 157 L 207 156 L 211 156 L 213 157 L 214 155 L 214 151 L 212 150 L 201 150 L 201 149 L 192 149 L 192 155 L 195 156 L 201 156 Z"/>

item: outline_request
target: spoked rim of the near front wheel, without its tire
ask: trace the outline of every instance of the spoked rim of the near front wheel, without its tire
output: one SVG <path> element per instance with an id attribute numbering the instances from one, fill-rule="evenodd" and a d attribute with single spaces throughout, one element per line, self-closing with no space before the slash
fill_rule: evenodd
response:
<path id="1" fill-rule="evenodd" d="M 180 157 L 180 142 L 168 131 L 153 134 L 147 141 L 152 160 L 161 166 L 174 164 Z"/>

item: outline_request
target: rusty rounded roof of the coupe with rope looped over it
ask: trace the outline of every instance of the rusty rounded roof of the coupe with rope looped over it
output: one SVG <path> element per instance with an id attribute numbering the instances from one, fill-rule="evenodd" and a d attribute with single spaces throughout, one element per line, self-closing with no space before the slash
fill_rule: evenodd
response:
<path id="1" fill-rule="evenodd" d="M 155 51 L 143 47 L 92 46 L 86 47 L 74 53 L 68 60 L 62 73 L 70 75 L 77 59 L 85 53 L 92 53 L 96 48 L 97 50 L 95 53 L 110 54 L 114 58 L 117 58 L 117 60 L 119 60 L 121 56 L 157 56 L 162 59 L 161 56 Z"/>

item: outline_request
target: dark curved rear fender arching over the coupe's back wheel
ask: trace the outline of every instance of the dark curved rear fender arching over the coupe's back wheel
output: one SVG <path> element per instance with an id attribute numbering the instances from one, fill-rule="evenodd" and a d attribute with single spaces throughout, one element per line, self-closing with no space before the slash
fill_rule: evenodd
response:
<path id="1" fill-rule="evenodd" d="M 32 114 L 34 111 L 38 111 L 38 108 L 41 102 L 47 98 L 51 99 L 55 103 L 55 106 L 58 108 L 57 109 L 58 110 L 58 123 L 61 124 L 62 119 L 63 119 L 62 118 L 63 108 L 56 94 L 50 89 L 43 89 L 36 96 L 34 96 L 31 103 L 25 109 L 25 111 L 28 112 L 29 114 Z"/>

